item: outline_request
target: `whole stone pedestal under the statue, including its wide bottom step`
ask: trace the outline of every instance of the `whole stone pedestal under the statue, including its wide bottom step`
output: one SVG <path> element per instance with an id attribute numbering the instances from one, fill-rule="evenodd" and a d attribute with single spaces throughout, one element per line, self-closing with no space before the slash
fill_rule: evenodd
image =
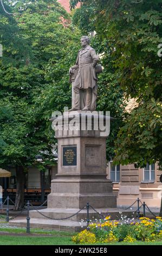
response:
<path id="1" fill-rule="evenodd" d="M 119 212 L 132 217 L 132 212 L 116 208 L 113 184 L 106 179 L 106 138 L 111 118 L 98 112 L 69 112 L 56 119 L 55 136 L 58 141 L 58 173 L 51 181 L 48 208 L 30 211 L 30 226 L 51 230 L 80 231 L 86 227 L 87 203 L 112 219 L 120 218 Z M 107 124 L 107 131 L 103 126 Z M 90 129 L 92 127 L 92 129 Z M 73 216 L 73 217 L 70 217 Z M 47 218 L 49 217 L 49 218 Z M 68 218 L 70 217 L 70 218 Z M 64 220 L 52 220 L 52 219 Z M 68 218 L 65 220 L 65 218 Z M 100 219 L 92 208 L 89 218 Z M 26 220 L 10 221 L 10 225 L 23 227 Z"/>

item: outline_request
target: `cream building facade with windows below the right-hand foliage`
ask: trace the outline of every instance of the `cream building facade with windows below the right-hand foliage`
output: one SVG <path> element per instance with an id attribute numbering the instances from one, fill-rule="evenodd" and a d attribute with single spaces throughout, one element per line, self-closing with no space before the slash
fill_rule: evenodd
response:
<path id="1" fill-rule="evenodd" d="M 113 192 L 119 206 L 129 206 L 139 197 L 149 207 L 160 207 L 162 183 L 159 178 L 162 172 L 158 164 L 135 169 L 134 164 L 113 166 L 108 163 L 107 178 L 113 181 Z"/>

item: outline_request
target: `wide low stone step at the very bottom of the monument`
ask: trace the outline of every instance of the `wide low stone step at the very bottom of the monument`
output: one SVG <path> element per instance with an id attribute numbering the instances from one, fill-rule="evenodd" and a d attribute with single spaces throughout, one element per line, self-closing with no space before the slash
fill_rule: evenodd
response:
<path id="1" fill-rule="evenodd" d="M 123 210 L 119 208 L 109 208 L 109 209 L 96 209 L 103 216 L 111 215 L 112 220 L 120 220 L 121 215 L 127 216 L 127 218 L 135 217 L 135 213 L 130 210 Z M 67 218 L 75 214 L 79 209 L 43 209 L 39 210 L 41 214 L 44 216 L 48 216 L 50 218 Z M 121 214 L 122 212 L 122 214 Z M 44 230 L 56 230 L 56 231 L 72 231 L 78 232 L 86 228 L 86 217 L 87 210 L 82 210 L 79 214 L 73 216 L 70 219 L 56 221 L 50 220 L 43 215 L 41 215 L 37 211 L 30 211 L 30 228 L 40 228 Z M 94 210 L 89 210 L 89 219 L 92 222 L 98 222 L 100 217 Z M 98 221 L 95 221 L 98 220 Z M 27 220 L 24 218 L 22 220 L 13 220 L 9 222 L 9 225 L 16 227 L 27 227 Z"/>

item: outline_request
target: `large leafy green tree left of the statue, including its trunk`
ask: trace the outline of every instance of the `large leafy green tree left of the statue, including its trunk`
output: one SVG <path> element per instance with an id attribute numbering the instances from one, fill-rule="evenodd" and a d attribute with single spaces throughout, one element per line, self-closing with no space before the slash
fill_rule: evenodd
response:
<path id="1" fill-rule="evenodd" d="M 73 63 L 79 33 L 74 35 L 70 17 L 57 1 L 9 3 L 11 11 L 18 14 L 21 9 L 21 15 L 10 18 L 1 14 L 7 20 L 7 30 L 3 29 L 1 41 L 0 164 L 16 166 L 18 209 L 24 202 L 24 173 L 28 166 L 35 163 L 43 170 L 47 163 L 54 162 L 54 132 L 49 118 L 52 111 L 70 105 L 67 66 Z M 9 28 L 12 34 L 7 33 Z M 37 155 L 42 164 L 36 162 Z"/>

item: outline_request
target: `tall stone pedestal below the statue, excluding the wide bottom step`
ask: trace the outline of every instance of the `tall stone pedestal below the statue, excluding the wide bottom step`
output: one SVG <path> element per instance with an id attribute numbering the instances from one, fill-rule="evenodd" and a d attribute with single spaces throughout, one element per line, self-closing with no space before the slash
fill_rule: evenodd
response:
<path id="1" fill-rule="evenodd" d="M 58 173 L 51 181 L 48 208 L 82 209 L 87 203 L 94 208 L 116 207 L 112 182 L 106 179 L 107 133 L 96 127 L 109 121 L 90 111 L 57 118 Z"/>

